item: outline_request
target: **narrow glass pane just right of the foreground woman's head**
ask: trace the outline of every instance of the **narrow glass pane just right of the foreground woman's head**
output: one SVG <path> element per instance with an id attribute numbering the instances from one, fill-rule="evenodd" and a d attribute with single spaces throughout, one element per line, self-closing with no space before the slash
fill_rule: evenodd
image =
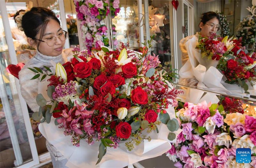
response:
<path id="1" fill-rule="evenodd" d="M 65 0 L 64 6 L 65 6 L 65 13 L 66 13 L 70 48 L 75 48 L 79 46 L 75 4 L 73 0 Z"/>

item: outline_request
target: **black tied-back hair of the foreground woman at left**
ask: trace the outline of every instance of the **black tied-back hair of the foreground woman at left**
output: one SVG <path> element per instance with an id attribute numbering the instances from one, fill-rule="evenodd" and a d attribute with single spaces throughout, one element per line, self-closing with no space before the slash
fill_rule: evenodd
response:
<path id="1" fill-rule="evenodd" d="M 18 11 L 13 17 L 14 20 L 21 11 L 24 10 Z M 36 35 L 40 33 L 39 40 L 42 40 L 47 23 L 51 19 L 56 20 L 60 24 L 60 20 L 52 10 L 42 7 L 33 7 L 22 16 L 21 27 L 27 37 L 35 40 Z M 40 41 L 38 42 L 37 47 L 39 46 L 39 43 Z"/>

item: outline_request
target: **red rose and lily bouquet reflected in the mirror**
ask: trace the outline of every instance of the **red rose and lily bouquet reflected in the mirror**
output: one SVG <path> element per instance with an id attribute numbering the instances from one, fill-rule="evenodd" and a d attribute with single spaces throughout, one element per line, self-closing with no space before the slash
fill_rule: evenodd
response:
<path id="1" fill-rule="evenodd" d="M 252 85 L 256 81 L 256 53 L 248 53 L 240 40 L 199 35 L 198 43 L 196 48 L 201 50 L 202 57 L 218 61 L 216 68 L 225 75 L 226 83 L 239 84 L 247 91 L 245 80 Z"/>

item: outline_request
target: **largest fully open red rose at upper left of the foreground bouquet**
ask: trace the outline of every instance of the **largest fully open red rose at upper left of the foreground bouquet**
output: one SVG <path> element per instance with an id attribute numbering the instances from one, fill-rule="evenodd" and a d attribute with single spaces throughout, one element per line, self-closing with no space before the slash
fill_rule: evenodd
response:
<path id="1" fill-rule="evenodd" d="M 89 62 L 79 62 L 74 66 L 75 77 L 86 78 L 92 74 L 92 64 Z"/>

